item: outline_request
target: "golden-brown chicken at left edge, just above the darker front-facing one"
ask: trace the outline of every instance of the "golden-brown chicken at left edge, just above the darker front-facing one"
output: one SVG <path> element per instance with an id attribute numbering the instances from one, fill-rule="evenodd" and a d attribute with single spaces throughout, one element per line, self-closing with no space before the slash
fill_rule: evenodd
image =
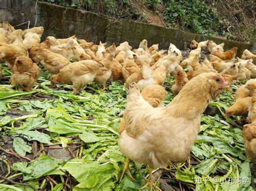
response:
<path id="1" fill-rule="evenodd" d="M 5 59 L 8 62 L 8 67 L 11 70 L 14 67 L 16 58 L 22 55 L 26 55 L 26 51 L 23 47 L 0 43 L 0 59 Z"/>

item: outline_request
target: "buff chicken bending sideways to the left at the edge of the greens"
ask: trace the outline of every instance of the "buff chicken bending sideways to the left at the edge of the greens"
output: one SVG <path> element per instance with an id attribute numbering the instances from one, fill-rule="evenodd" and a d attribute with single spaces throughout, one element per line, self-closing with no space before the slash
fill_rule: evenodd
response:
<path id="1" fill-rule="evenodd" d="M 59 70 L 59 73 L 51 78 L 53 84 L 73 84 L 73 93 L 77 94 L 87 83 L 95 79 L 102 63 L 94 60 L 82 60 L 73 62 Z"/>

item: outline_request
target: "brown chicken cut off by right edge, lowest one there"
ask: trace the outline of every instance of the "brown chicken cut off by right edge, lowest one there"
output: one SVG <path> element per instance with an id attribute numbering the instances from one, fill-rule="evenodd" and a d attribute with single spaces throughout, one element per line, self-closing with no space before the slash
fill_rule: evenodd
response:
<path id="1" fill-rule="evenodd" d="M 249 160 L 256 159 L 256 124 L 246 124 L 242 129 L 242 136 L 245 139 L 245 152 Z"/>

